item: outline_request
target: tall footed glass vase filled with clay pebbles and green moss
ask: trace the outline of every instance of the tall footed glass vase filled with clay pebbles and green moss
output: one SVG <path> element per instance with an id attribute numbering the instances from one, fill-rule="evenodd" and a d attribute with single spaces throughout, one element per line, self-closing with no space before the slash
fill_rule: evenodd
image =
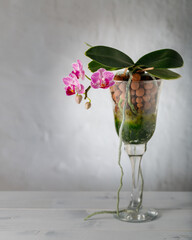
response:
<path id="1" fill-rule="evenodd" d="M 115 85 L 110 88 L 115 128 L 132 168 L 130 203 L 126 209 L 117 211 L 115 217 L 127 222 L 145 222 L 158 216 L 156 209 L 142 206 L 144 178 L 141 160 L 155 131 L 162 81 L 144 77 L 139 81 L 132 80 L 129 86 L 127 84 L 126 80 L 115 80 Z"/>

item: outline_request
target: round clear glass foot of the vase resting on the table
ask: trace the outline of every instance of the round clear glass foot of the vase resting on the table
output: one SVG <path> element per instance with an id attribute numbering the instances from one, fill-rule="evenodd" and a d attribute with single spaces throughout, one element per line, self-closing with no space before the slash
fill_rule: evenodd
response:
<path id="1" fill-rule="evenodd" d="M 146 209 L 141 208 L 139 211 L 133 209 L 125 209 L 119 212 L 119 215 L 115 214 L 114 217 L 118 220 L 124 222 L 133 222 L 133 223 L 140 223 L 140 222 L 149 222 L 154 220 L 158 216 L 158 211 L 156 209 Z"/>

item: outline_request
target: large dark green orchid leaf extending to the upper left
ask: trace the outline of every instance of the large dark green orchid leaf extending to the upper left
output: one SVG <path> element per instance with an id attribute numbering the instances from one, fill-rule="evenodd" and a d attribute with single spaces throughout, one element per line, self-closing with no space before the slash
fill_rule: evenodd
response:
<path id="1" fill-rule="evenodd" d="M 89 48 L 85 55 L 100 64 L 112 68 L 126 68 L 134 65 L 129 56 L 115 48 L 95 46 Z"/>

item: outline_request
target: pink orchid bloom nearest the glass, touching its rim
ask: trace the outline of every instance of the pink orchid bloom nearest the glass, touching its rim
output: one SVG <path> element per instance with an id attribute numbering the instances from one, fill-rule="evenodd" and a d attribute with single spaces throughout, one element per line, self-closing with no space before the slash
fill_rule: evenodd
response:
<path id="1" fill-rule="evenodd" d="M 91 76 L 91 87 L 92 88 L 108 88 L 115 84 L 113 80 L 114 74 L 106 71 L 104 68 L 100 68 L 97 72 Z"/>

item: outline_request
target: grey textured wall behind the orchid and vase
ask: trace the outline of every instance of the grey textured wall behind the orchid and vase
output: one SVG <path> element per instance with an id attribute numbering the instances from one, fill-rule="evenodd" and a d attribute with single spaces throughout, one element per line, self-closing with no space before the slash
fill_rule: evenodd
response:
<path id="1" fill-rule="evenodd" d="M 191 0 L 0 0 L 0 190 L 117 189 L 108 90 L 91 92 L 89 111 L 63 90 L 71 63 L 88 63 L 84 42 L 133 60 L 183 56 L 182 78 L 164 81 L 143 174 L 145 190 L 192 190 L 191 15 Z M 125 153 L 123 165 L 129 182 Z"/>

